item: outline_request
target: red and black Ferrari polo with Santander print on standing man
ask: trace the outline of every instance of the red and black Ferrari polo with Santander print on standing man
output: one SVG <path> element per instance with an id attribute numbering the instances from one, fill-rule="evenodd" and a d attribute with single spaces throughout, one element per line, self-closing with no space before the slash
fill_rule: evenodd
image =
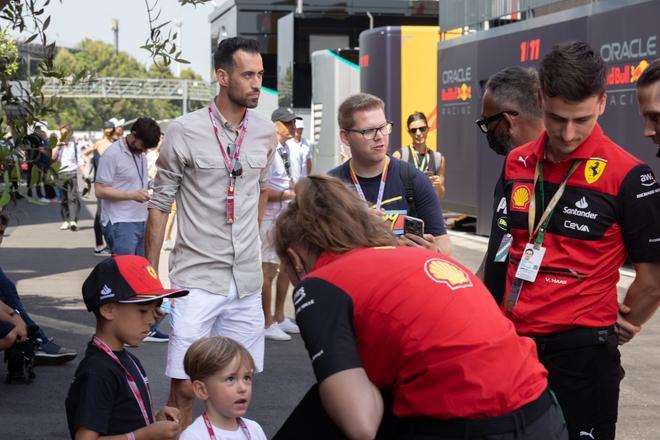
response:
<path id="1" fill-rule="evenodd" d="M 547 133 L 509 153 L 505 193 L 513 235 L 507 291 L 525 244 L 534 169 L 544 157 Z M 543 160 L 545 204 L 575 160 L 581 160 L 557 204 L 543 246 L 545 257 L 534 283 L 525 282 L 507 316 L 524 335 L 616 322 L 616 284 L 626 256 L 633 263 L 660 261 L 660 186 L 645 163 L 616 145 L 596 125 L 565 160 Z M 536 190 L 536 220 L 541 217 Z"/>

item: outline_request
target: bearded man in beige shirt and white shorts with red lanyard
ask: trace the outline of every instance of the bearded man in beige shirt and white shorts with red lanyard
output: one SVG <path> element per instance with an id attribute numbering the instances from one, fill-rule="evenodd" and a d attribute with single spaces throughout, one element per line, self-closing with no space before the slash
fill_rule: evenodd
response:
<path id="1" fill-rule="evenodd" d="M 178 232 L 170 280 L 190 294 L 173 308 L 165 374 L 172 379 L 168 405 L 179 408 L 183 427 L 192 421 L 194 400 L 183 358 L 194 341 L 231 337 L 250 351 L 258 370 L 263 368 L 258 219 L 277 139 L 270 121 L 249 110 L 257 106 L 263 77 L 258 43 L 225 39 L 214 63 L 219 95 L 208 107 L 177 118 L 165 133 L 146 232 L 146 256 L 158 267 L 176 199 Z M 230 179 L 225 159 L 235 178 Z M 235 182 L 232 223 L 230 181 Z"/>

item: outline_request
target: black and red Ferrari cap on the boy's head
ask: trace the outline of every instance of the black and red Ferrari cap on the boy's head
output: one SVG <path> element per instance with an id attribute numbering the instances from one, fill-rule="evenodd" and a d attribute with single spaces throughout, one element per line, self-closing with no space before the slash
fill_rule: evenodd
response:
<path id="1" fill-rule="evenodd" d="M 117 255 L 105 259 L 92 270 L 82 288 L 87 310 L 102 305 L 141 303 L 160 298 L 178 298 L 188 294 L 184 289 L 164 289 L 158 274 L 144 257 Z"/>

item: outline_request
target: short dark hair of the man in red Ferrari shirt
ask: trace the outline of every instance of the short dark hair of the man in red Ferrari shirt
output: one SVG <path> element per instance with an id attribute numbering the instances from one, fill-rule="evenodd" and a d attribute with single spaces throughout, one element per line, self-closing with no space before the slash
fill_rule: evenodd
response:
<path id="1" fill-rule="evenodd" d="M 539 81 L 545 96 L 579 102 L 605 91 L 606 73 L 605 62 L 588 43 L 570 41 L 543 57 Z"/>

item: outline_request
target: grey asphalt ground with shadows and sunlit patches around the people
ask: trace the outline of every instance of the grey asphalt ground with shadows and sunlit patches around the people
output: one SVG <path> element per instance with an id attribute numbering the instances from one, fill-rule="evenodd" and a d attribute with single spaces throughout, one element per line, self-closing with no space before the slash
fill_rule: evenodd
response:
<path id="1" fill-rule="evenodd" d="M 68 438 L 64 399 L 76 366 L 94 331 L 94 318 L 80 296 L 80 286 L 100 261 L 92 254 L 93 213 L 96 204 L 85 200 L 77 232 L 60 231 L 59 205 L 32 205 L 21 201 L 12 210 L 9 236 L 0 248 L 0 267 L 17 283 L 19 294 L 33 319 L 49 336 L 79 356 L 60 366 L 37 367 L 30 385 L 7 385 L 0 365 L 0 440 Z M 476 269 L 485 241 L 467 234 L 452 234 L 454 257 Z M 167 253 L 162 254 L 166 260 Z M 161 274 L 166 273 L 164 262 Z M 623 277 L 620 293 L 632 280 Z M 288 302 L 288 313 L 292 311 Z M 166 323 L 161 324 L 167 330 Z M 660 438 L 660 319 L 652 319 L 633 342 L 622 347 L 626 377 L 621 386 L 618 439 Z M 167 344 L 146 343 L 133 349 L 145 366 L 154 400 L 167 398 L 164 376 Z M 295 407 L 314 377 L 299 336 L 291 341 L 266 343 L 265 371 L 255 377 L 248 417 L 272 436 Z M 196 405 L 195 416 L 201 412 Z"/>

